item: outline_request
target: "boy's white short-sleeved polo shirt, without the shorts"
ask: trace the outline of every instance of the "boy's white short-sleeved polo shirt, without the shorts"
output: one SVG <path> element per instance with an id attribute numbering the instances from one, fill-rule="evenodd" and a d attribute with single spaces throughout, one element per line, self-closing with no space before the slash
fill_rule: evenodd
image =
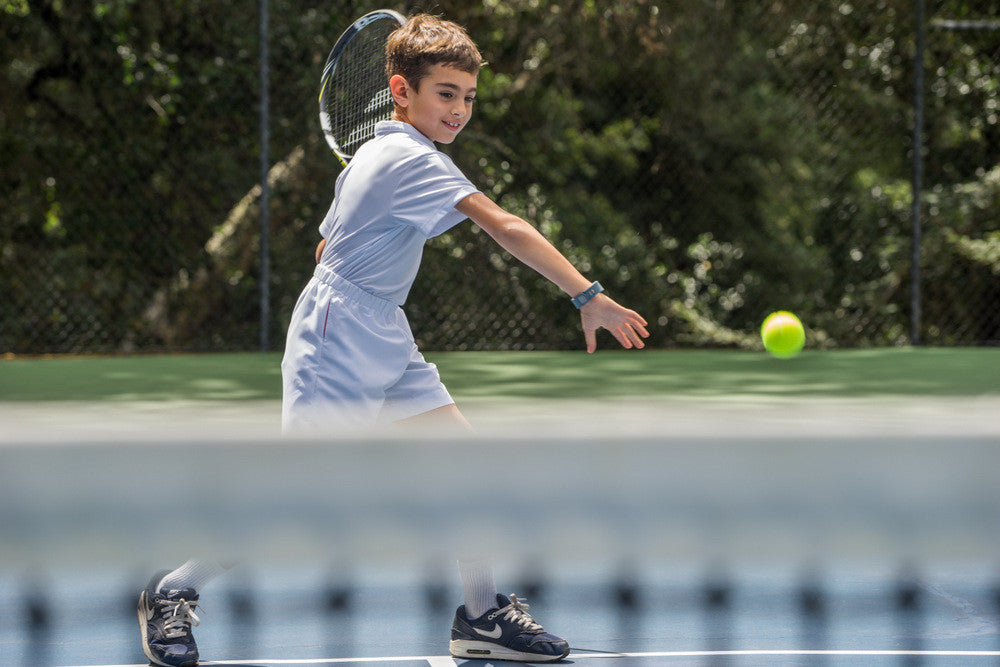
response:
<path id="1" fill-rule="evenodd" d="M 320 262 L 361 289 L 403 304 L 427 239 L 465 219 L 455 205 L 478 189 L 434 142 L 399 121 L 376 125 L 337 179 L 320 225 Z"/>

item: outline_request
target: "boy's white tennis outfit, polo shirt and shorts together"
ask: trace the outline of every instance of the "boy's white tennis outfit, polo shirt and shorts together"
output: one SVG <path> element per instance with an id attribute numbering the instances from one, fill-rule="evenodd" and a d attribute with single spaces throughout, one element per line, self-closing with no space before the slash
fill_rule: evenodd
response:
<path id="1" fill-rule="evenodd" d="M 453 403 L 399 307 L 424 244 L 465 219 L 477 192 L 407 123 L 383 122 L 337 179 L 323 257 L 292 312 L 282 373 L 285 432 L 336 432 Z"/>

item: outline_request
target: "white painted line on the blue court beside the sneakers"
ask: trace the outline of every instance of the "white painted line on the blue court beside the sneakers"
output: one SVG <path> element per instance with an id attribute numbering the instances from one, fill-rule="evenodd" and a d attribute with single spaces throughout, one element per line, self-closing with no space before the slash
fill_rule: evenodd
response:
<path id="1" fill-rule="evenodd" d="M 570 660 L 613 659 L 613 658 L 711 658 L 727 656 L 895 656 L 895 657 L 958 657 L 985 658 L 1000 657 L 1000 651 L 906 651 L 906 650 L 804 650 L 804 649 L 759 649 L 745 651 L 657 651 L 652 653 L 571 653 Z M 376 658 L 311 658 L 305 660 L 212 660 L 201 665 L 335 665 L 351 662 L 395 662 L 425 660 L 430 667 L 457 667 L 458 663 L 449 656 L 418 655 Z M 67 666 L 69 667 L 69 666 Z M 72 667 L 148 667 L 148 665 L 75 665 Z"/>

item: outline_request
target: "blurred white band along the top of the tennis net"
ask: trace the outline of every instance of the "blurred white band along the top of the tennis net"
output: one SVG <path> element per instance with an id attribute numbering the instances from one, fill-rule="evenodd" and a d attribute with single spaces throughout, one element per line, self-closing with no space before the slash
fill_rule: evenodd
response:
<path id="1" fill-rule="evenodd" d="M 823 405 L 796 423 L 767 404 L 546 404 L 500 411 L 509 421 L 475 435 L 322 441 L 183 411 L 153 413 L 141 437 L 14 429 L 0 447 L 0 562 L 423 559 L 470 543 L 560 559 L 996 553 L 988 406 L 961 420 L 939 403 L 882 405 L 862 425 L 861 403 Z"/>

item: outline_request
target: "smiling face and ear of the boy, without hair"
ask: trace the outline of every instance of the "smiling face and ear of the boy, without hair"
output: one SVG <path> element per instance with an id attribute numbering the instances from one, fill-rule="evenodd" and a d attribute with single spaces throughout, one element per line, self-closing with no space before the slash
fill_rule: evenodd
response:
<path id="1" fill-rule="evenodd" d="M 431 141 L 450 144 L 472 116 L 478 77 L 469 72 L 433 65 L 414 90 L 406 79 L 394 76 L 389 81 L 393 99 L 402 108 L 405 120 Z"/>

